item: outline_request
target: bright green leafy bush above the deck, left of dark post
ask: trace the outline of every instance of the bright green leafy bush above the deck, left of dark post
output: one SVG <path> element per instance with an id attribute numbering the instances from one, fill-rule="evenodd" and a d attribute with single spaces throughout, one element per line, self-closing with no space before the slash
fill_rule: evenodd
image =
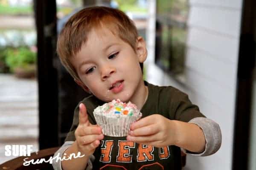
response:
<path id="1" fill-rule="evenodd" d="M 36 54 L 26 47 L 6 48 L 5 50 L 6 65 L 13 72 L 15 68 L 28 68 L 29 65 L 36 62 Z"/>

